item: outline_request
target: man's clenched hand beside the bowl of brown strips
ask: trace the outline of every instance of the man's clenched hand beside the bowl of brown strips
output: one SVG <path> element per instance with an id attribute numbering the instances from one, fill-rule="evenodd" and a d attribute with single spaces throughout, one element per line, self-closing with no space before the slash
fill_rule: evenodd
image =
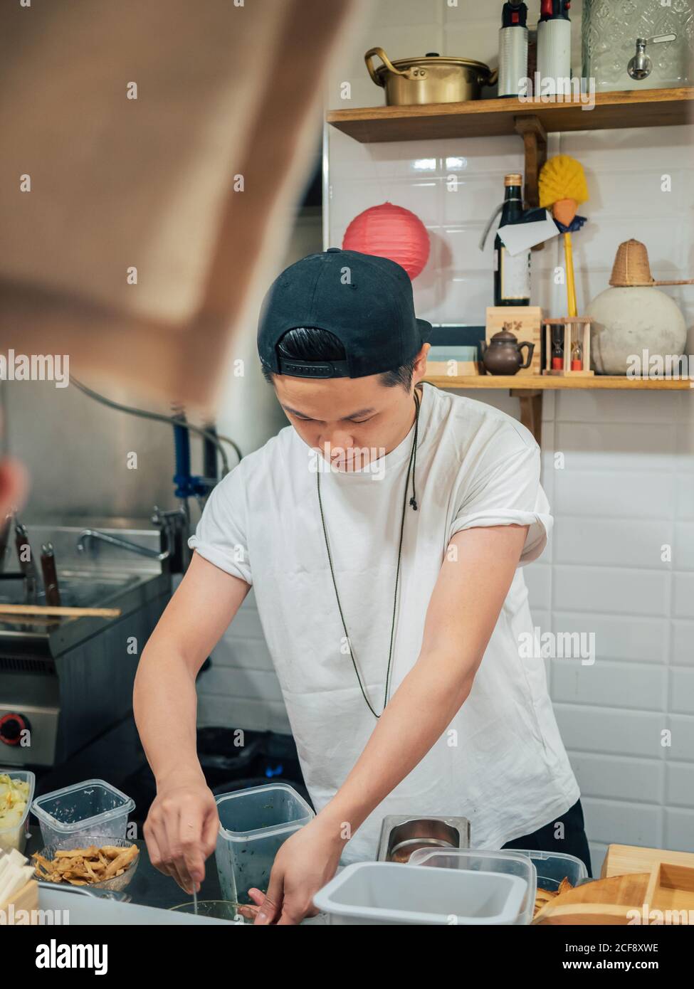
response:
<path id="1" fill-rule="evenodd" d="M 218 830 L 217 804 L 202 774 L 164 782 L 143 828 L 151 864 L 187 893 L 192 893 L 193 883 L 198 890 Z"/>

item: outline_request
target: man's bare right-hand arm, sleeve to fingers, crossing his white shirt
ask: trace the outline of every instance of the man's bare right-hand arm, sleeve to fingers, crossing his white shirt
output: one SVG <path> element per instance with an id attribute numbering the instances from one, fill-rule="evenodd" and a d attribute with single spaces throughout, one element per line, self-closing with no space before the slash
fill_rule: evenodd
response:
<path id="1" fill-rule="evenodd" d="M 444 733 L 470 692 L 527 533 L 527 525 L 504 525 L 450 540 L 417 663 L 335 797 L 280 849 L 256 923 L 298 923 L 315 913 L 313 896 L 334 874 L 347 839 Z"/>

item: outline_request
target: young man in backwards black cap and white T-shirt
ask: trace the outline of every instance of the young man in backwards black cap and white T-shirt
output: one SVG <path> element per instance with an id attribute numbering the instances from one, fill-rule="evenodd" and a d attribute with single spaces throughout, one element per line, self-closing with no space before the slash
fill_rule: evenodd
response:
<path id="1" fill-rule="evenodd" d="M 456 815 L 473 848 L 588 849 L 521 571 L 551 517 L 515 419 L 423 384 L 431 326 L 405 271 L 331 248 L 265 300 L 258 353 L 291 423 L 211 494 L 138 673 L 152 860 L 189 886 L 217 815 L 195 674 L 252 584 L 317 816 L 256 923 L 298 923 L 386 814 Z"/>

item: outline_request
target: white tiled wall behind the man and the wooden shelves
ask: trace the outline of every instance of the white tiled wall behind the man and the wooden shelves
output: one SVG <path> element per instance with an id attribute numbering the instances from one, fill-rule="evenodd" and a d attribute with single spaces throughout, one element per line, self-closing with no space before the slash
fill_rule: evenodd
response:
<path id="1" fill-rule="evenodd" d="M 373 45 L 395 58 L 435 50 L 496 64 L 500 8 L 471 0 L 369 0 L 368 23 L 333 72 L 328 106 L 382 102 L 363 65 L 363 51 Z M 572 4 L 572 21 L 578 65 L 579 3 Z M 340 99 L 344 81 L 351 85 L 348 103 Z M 405 206 L 432 241 L 429 264 L 414 283 L 418 314 L 483 323 L 491 249 L 481 254 L 476 244 L 503 194 L 504 174 L 523 169 L 520 139 L 366 145 L 328 128 L 327 150 L 325 246 L 340 245 L 348 222 L 366 207 L 385 200 Z M 560 151 L 582 162 L 591 197 L 583 208 L 589 222 L 573 238 L 579 306 L 607 287 L 617 245 L 632 236 L 646 243 L 657 276 L 691 276 L 691 129 L 551 135 L 549 153 Z M 671 193 L 659 191 L 664 172 L 672 176 Z M 450 174 L 459 178 L 454 193 L 446 190 Z M 548 278 L 558 263 L 556 245 L 534 254 L 534 302 L 563 312 L 563 290 Z M 692 325 L 694 289 L 665 291 Z M 694 353 L 694 333 L 687 352 Z M 504 393 L 472 397 L 518 414 L 517 400 Z M 548 394 L 544 419 L 544 483 L 555 531 L 526 577 L 544 631 L 596 637 L 594 666 L 549 663 L 594 868 L 612 842 L 694 851 L 694 392 Z M 554 452 L 564 454 L 562 470 L 554 468 Z M 661 561 L 663 544 L 672 546 L 671 563 Z M 214 683 L 206 674 L 205 723 L 229 723 L 231 705 L 248 728 L 288 730 L 252 598 L 215 663 Z M 669 748 L 660 742 L 665 730 L 672 733 Z"/>

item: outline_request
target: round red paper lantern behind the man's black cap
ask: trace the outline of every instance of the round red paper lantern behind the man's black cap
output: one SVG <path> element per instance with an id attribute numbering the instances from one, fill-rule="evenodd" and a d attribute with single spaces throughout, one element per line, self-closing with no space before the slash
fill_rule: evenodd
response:
<path id="1" fill-rule="evenodd" d="M 344 250 L 358 250 L 396 261 L 417 278 L 429 259 L 429 233 L 419 217 L 402 206 L 371 206 L 347 226 Z"/>

